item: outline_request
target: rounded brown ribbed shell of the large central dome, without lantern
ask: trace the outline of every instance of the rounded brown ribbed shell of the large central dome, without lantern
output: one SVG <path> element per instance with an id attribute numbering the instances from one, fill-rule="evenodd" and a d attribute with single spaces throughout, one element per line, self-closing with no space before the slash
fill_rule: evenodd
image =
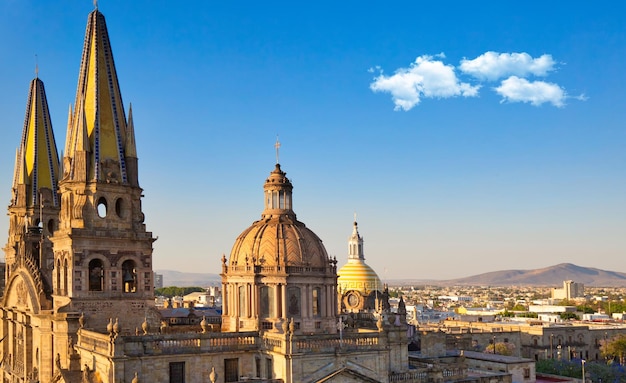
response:
<path id="1" fill-rule="evenodd" d="M 256 221 L 235 241 L 230 266 L 326 267 L 322 240 L 304 223 L 288 217 Z"/>

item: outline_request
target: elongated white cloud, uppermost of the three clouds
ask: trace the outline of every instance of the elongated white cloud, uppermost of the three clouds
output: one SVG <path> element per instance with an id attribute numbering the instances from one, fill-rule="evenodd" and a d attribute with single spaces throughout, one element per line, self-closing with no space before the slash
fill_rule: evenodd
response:
<path id="1" fill-rule="evenodd" d="M 555 61 L 544 54 L 533 58 L 528 53 L 485 52 L 473 60 L 463 59 L 459 69 L 481 80 L 496 81 L 509 76 L 546 76 Z"/>

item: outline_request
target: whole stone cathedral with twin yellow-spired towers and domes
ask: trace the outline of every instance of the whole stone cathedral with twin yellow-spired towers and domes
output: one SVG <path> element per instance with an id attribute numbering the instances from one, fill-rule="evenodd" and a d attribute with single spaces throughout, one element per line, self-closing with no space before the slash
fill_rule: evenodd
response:
<path id="1" fill-rule="evenodd" d="M 2 382 L 424 379 L 409 367 L 402 302 L 389 312 L 356 222 L 338 271 L 296 218 L 293 185 L 278 163 L 265 179 L 261 218 L 222 257 L 221 325 L 164 331 L 134 132 L 96 8 L 62 158 L 44 83 L 30 84 L 4 247 Z"/>

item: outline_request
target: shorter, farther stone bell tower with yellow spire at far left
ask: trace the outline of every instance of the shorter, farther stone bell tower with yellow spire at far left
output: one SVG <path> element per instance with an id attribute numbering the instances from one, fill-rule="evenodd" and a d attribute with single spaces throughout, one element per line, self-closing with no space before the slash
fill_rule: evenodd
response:
<path id="1" fill-rule="evenodd" d="M 30 83 L 22 139 L 17 149 L 5 247 L 7 290 L 28 285 L 30 306 L 51 308 L 52 244 L 58 225 L 59 157 L 43 81 Z M 7 299 L 5 294 L 5 303 Z"/>

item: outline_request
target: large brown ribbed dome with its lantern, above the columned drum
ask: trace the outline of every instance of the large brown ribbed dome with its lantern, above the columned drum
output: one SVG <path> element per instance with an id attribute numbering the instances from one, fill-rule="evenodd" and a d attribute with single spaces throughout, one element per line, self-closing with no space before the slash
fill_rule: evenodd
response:
<path id="1" fill-rule="evenodd" d="M 276 271 L 280 270 L 277 267 L 285 266 L 326 270 L 329 265 L 326 249 L 322 240 L 296 219 L 292 189 L 286 173 L 276 164 L 265 181 L 265 210 L 261 220 L 237 237 L 230 252 L 231 270 L 242 266 L 273 267 Z"/>

